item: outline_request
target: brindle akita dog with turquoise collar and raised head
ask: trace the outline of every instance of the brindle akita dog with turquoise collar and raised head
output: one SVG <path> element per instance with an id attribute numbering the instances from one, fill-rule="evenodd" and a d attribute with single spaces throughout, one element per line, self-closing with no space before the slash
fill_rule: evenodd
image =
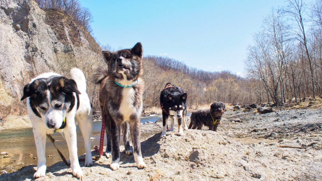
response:
<path id="1" fill-rule="evenodd" d="M 123 140 L 126 154 L 132 149 L 128 143 L 128 123 L 130 125 L 134 159 L 138 168 L 145 168 L 140 143 L 140 117 L 142 113 L 142 95 L 144 81 L 140 78 L 143 73 L 141 43 L 132 49 L 116 52 L 102 50 L 107 67 L 100 67 L 93 74 L 96 84 L 100 84 L 99 101 L 105 120 L 107 148 L 105 155 L 112 152 L 110 168 L 119 168 L 119 138 L 123 126 Z M 128 122 L 128 123 L 127 123 Z"/>

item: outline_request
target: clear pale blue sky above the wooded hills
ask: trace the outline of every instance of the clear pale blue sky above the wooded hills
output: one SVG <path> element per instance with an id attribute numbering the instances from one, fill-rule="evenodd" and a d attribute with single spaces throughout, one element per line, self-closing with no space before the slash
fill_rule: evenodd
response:
<path id="1" fill-rule="evenodd" d="M 115 50 L 143 45 L 205 71 L 244 71 L 246 49 L 263 16 L 284 0 L 80 0 L 94 16 L 94 37 Z"/>

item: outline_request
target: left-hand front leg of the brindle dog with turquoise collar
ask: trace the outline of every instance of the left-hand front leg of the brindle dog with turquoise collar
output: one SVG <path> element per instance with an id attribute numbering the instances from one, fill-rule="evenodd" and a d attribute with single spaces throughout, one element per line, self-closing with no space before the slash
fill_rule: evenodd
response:
<path id="1" fill-rule="evenodd" d="M 111 120 L 111 138 L 112 138 L 112 163 L 109 166 L 112 170 L 119 169 L 119 161 L 120 161 L 120 132 L 121 125 Z"/>

